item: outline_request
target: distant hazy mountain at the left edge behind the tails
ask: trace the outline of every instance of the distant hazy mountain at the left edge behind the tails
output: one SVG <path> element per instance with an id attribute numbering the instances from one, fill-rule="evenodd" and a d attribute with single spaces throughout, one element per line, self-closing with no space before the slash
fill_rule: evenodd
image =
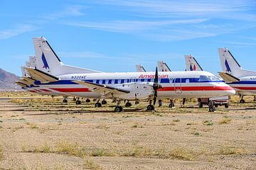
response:
<path id="1" fill-rule="evenodd" d="M 18 79 L 20 79 L 20 77 L 10 72 L 6 72 L 4 69 L 0 68 L 0 91 L 21 89 L 20 86 L 15 85 L 15 81 Z"/>

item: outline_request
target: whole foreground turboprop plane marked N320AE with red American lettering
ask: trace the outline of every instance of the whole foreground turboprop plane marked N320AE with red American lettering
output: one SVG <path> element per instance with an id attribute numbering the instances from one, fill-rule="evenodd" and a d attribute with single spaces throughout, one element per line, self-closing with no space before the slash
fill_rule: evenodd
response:
<path id="1" fill-rule="evenodd" d="M 156 98 L 210 97 L 233 95 L 235 91 L 209 72 L 98 72 L 91 69 L 68 73 L 45 38 L 34 38 L 36 58 L 44 71 L 28 68 L 32 77 L 43 77 L 36 85 L 84 98 L 112 98 L 114 111 L 122 111 L 120 101 L 149 100 L 154 110 Z M 54 74 L 54 75 L 53 75 Z M 153 105 L 152 105 L 153 101 Z M 101 106 L 95 103 L 96 107 Z"/>

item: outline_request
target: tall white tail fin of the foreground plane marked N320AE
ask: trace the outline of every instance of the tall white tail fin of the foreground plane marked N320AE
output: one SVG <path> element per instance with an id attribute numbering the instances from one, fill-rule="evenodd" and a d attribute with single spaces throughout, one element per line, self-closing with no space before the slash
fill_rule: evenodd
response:
<path id="1" fill-rule="evenodd" d="M 95 73 L 99 72 L 92 69 L 82 69 L 65 65 L 60 61 L 53 48 L 46 38 L 33 38 L 33 44 L 36 51 L 36 69 L 47 72 L 54 76 L 75 73 Z"/>

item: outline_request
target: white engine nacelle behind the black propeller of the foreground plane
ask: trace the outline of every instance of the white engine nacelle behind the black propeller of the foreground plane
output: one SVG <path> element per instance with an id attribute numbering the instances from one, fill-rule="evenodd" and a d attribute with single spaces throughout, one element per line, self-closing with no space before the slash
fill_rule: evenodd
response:
<path id="1" fill-rule="evenodd" d="M 126 99 L 129 101 L 145 100 L 154 94 L 153 87 L 146 82 L 119 84 L 114 87 L 130 91 L 129 94 L 113 94 L 113 97 L 115 98 Z"/>

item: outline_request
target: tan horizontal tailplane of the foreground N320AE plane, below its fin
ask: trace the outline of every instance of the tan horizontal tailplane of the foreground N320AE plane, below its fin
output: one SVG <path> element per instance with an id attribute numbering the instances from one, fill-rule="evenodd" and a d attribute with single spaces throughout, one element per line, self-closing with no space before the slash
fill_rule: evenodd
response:
<path id="1" fill-rule="evenodd" d="M 33 79 L 36 79 L 41 82 L 52 82 L 52 81 L 58 81 L 58 77 L 54 77 L 53 75 L 50 75 L 46 72 L 42 72 L 38 69 L 33 68 L 26 68 L 28 70 L 28 73 Z"/>

